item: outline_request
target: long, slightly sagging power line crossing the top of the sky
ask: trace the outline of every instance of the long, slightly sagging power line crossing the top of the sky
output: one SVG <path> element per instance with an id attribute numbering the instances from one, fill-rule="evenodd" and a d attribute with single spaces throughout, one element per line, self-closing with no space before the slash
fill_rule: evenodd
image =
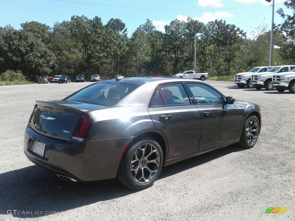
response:
<path id="1" fill-rule="evenodd" d="M 94 3 L 85 3 L 78 1 L 65 1 L 65 0 L 52 0 L 52 1 L 64 1 L 78 4 L 87 4 L 87 5 L 99 5 L 99 6 L 109 6 L 109 7 L 119 7 L 119 8 L 131 8 L 131 9 L 153 9 L 153 10 L 181 10 L 181 11 L 213 11 L 213 10 L 230 10 L 230 9 L 253 9 L 253 8 L 263 8 L 270 6 L 258 6 L 258 7 L 245 7 L 245 8 L 227 8 L 227 9 L 161 9 L 161 8 L 144 8 L 144 7 L 131 7 L 131 6 L 119 6 L 119 5 L 105 5 L 105 4 L 94 4 Z M 283 4 L 278 4 L 283 5 Z M 263 10 L 264 11 L 264 10 Z"/>

